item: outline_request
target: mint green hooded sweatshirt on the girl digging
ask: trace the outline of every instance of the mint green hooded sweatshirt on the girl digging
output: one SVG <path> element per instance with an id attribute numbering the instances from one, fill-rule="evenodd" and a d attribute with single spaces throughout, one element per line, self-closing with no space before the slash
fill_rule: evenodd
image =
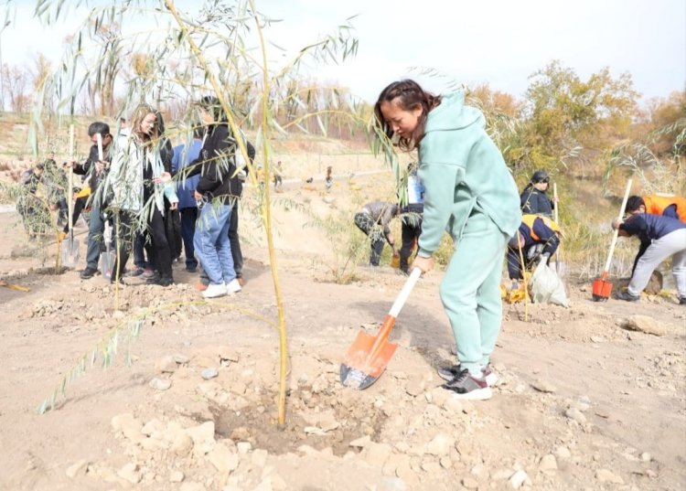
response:
<path id="1" fill-rule="evenodd" d="M 473 210 L 511 237 L 520 226 L 520 195 L 483 114 L 461 93 L 445 95 L 429 112 L 419 146 L 425 187 L 419 255 L 431 257 L 446 230 L 456 242 Z"/>

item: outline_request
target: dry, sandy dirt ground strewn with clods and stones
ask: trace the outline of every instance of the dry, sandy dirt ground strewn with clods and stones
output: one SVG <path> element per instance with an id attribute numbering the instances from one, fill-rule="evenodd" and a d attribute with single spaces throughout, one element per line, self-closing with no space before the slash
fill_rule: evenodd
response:
<path id="1" fill-rule="evenodd" d="M 324 195 L 322 183 L 289 184 L 280 197 L 324 213 L 346 186 Z M 82 265 L 54 274 L 52 257 L 27 250 L 16 213 L 0 213 L 0 280 L 30 288 L 0 287 L 0 488 L 686 489 L 686 307 L 673 294 L 595 303 L 590 283 L 570 275 L 569 308 L 504 304 L 494 397 L 461 402 L 435 374 L 455 356 L 442 273 L 431 272 L 391 334 L 400 347 L 385 374 L 351 390 L 341 358 L 359 331 L 376 333 L 404 278 L 363 267 L 353 283 L 332 283 L 321 231 L 303 228 L 295 208 L 275 214 L 284 429 L 261 240 L 246 240 L 243 291 L 202 303 L 182 265 L 166 289 L 131 278 L 115 292 L 101 276 L 80 280 Z M 127 342 L 123 330 L 113 366 L 100 353 L 38 415 L 77 360 L 136 315 L 140 334 Z"/>

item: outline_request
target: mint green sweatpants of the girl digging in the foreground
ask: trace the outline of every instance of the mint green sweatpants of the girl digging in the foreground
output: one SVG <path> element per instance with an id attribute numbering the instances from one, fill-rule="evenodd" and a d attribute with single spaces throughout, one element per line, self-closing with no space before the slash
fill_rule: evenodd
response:
<path id="1" fill-rule="evenodd" d="M 500 332 L 500 277 L 507 241 L 487 215 L 473 211 L 455 241 L 441 283 L 441 301 L 453 328 L 459 363 L 479 376 Z"/>

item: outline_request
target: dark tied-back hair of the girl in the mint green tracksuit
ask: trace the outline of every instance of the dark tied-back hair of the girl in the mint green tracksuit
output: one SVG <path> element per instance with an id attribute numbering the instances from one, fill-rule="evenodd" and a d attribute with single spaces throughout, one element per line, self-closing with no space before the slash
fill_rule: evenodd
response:
<path id="1" fill-rule="evenodd" d="M 402 150 L 410 151 L 419 146 L 422 141 L 426 118 L 429 117 L 429 112 L 441 103 L 441 96 L 424 91 L 414 80 L 395 81 L 381 91 L 379 100 L 374 104 L 374 115 L 381 131 L 392 138 L 393 130 L 383 119 L 381 113 L 382 102 L 392 102 L 403 111 L 413 111 L 420 106 L 422 107 L 422 114 L 419 116 L 417 127 L 414 128 L 413 133 L 409 137 L 401 137 L 398 141 L 398 146 Z"/>

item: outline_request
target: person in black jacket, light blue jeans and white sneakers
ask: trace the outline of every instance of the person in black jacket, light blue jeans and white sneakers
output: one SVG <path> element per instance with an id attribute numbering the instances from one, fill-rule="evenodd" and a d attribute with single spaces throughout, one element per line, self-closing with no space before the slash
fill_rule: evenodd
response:
<path id="1" fill-rule="evenodd" d="M 242 186 L 235 162 L 238 147 L 220 101 L 206 96 L 199 105 L 207 128 L 205 142 L 198 158 L 188 165 L 186 176 L 200 175 L 195 190 L 200 211 L 193 246 L 209 279 L 202 296 L 215 298 L 241 291 L 231 256 L 229 227 Z"/>

